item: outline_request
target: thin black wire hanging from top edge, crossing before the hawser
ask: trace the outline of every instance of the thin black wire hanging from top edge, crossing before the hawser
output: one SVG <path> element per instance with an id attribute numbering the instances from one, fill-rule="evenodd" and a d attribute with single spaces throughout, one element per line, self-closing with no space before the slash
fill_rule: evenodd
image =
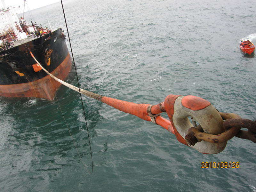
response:
<path id="1" fill-rule="evenodd" d="M 65 16 L 65 12 L 64 12 L 64 7 L 63 7 L 62 0 L 60 0 L 60 2 L 61 2 L 62 11 L 63 11 L 63 15 L 64 15 L 65 23 L 66 23 L 66 28 L 67 28 L 67 33 L 68 33 L 68 25 L 67 25 L 67 20 L 66 20 L 66 16 Z M 76 71 L 76 64 L 75 64 L 75 59 L 74 59 L 74 56 L 73 56 L 73 51 L 72 51 L 72 47 L 71 47 L 71 42 L 70 42 L 69 33 L 68 33 L 68 41 L 69 41 L 70 50 L 71 50 L 71 54 L 72 54 L 72 58 L 73 58 L 74 66 L 75 66 L 75 71 Z M 80 92 L 80 86 L 79 86 L 79 81 L 78 81 L 77 72 L 76 72 L 76 79 L 77 79 L 79 94 L 80 94 L 80 98 L 81 98 L 81 102 L 82 102 L 82 106 L 83 106 L 83 111 L 84 111 L 84 104 L 83 104 L 83 100 L 82 100 L 82 94 L 81 94 L 81 92 Z M 91 148 L 91 142 L 90 142 L 90 137 L 89 137 L 89 131 L 88 131 L 88 126 L 87 126 L 87 121 L 86 121 L 85 112 L 84 112 L 84 118 L 85 118 L 85 123 L 86 123 L 86 128 L 87 128 L 87 134 L 88 134 L 88 140 L 89 140 L 89 145 L 90 145 L 90 150 L 91 150 L 91 158 L 92 158 L 92 148 Z M 92 163 L 92 171 L 93 171 L 93 163 Z"/>

